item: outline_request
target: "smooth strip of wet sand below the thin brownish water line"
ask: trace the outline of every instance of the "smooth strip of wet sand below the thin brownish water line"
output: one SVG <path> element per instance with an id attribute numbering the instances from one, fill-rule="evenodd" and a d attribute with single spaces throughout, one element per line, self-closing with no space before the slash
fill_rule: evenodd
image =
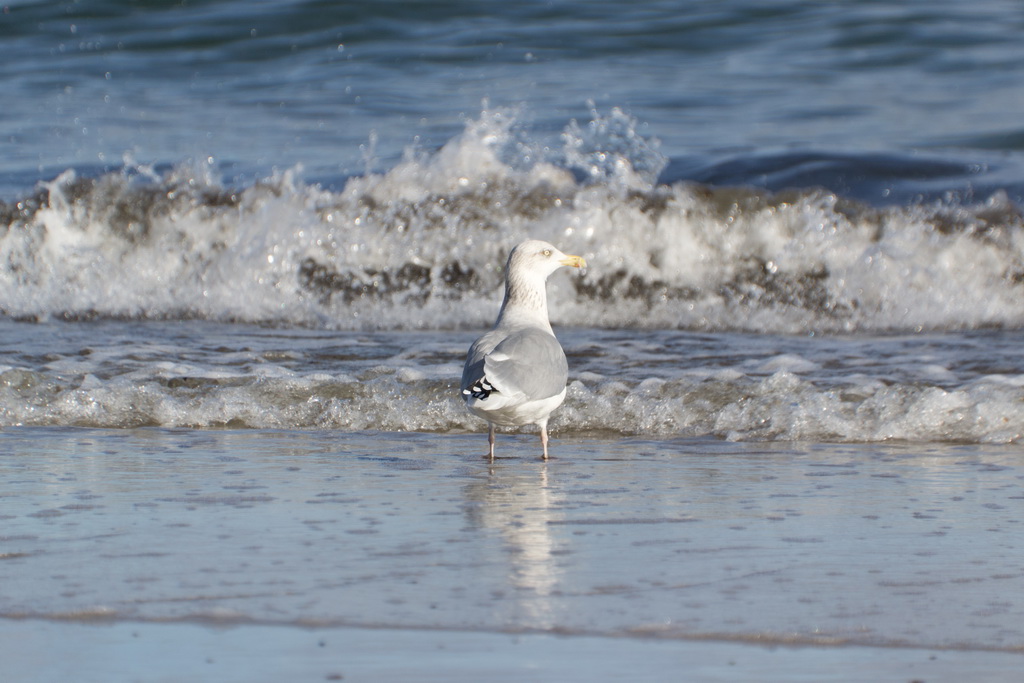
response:
<path id="1" fill-rule="evenodd" d="M 0 642 L 18 645 L 0 674 L 40 682 L 170 680 L 161 672 L 218 681 L 1010 682 L 1024 664 L 1024 653 L 990 650 L 255 624 L 0 618 Z"/>

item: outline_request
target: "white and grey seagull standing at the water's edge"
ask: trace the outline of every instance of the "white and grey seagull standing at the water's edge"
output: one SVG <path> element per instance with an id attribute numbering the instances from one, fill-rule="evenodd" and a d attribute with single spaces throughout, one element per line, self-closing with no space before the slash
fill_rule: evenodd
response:
<path id="1" fill-rule="evenodd" d="M 527 240 L 509 254 L 505 300 L 498 321 L 469 347 L 462 371 L 462 397 L 487 421 L 488 457 L 495 460 L 495 426 L 535 424 L 548 459 L 548 418 L 565 399 L 568 362 L 548 321 L 545 283 L 558 268 L 586 267 L 540 240 Z"/>

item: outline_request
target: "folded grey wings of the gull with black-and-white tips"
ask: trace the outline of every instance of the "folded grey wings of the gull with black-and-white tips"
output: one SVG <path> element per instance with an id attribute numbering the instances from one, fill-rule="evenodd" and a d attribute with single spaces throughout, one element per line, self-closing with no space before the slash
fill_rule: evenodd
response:
<path id="1" fill-rule="evenodd" d="M 497 332 L 497 331 L 496 331 Z M 484 335 L 470 347 L 462 374 L 462 389 L 485 381 L 506 395 L 528 400 L 554 396 L 565 388 L 568 362 L 558 340 L 536 329 L 520 330 L 496 341 Z"/>

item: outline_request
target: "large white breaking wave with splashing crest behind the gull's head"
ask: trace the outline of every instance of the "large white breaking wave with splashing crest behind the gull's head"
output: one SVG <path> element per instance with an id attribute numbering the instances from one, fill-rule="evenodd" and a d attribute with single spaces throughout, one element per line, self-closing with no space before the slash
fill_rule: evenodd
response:
<path id="1" fill-rule="evenodd" d="M 553 145 L 485 110 L 441 148 L 337 188 L 296 171 L 231 187 L 205 163 L 69 170 L 0 204 L 0 311 L 478 328 L 508 250 L 532 237 L 590 264 L 549 283 L 562 326 L 1024 325 L 1024 215 L 1005 193 L 878 207 L 817 187 L 659 182 L 668 160 L 639 128 L 595 113 Z"/>

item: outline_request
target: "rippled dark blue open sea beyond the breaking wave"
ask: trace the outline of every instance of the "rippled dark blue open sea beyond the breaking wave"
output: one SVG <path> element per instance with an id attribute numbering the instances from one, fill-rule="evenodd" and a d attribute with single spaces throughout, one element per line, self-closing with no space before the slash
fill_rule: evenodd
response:
<path id="1" fill-rule="evenodd" d="M 126 157 L 212 160 L 240 183 L 301 164 L 339 184 L 511 105 L 552 140 L 620 108 L 670 180 L 938 176 L 932 191 L 1019 197 L 1022 29 L 1009 0 L 15 1 L 0 191 Z"/>

